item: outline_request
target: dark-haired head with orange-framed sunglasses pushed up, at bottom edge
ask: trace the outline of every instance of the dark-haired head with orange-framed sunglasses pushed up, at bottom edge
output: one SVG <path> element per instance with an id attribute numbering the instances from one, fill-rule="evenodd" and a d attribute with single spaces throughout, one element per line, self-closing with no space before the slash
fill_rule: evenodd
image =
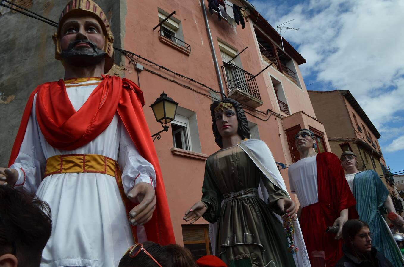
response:
<path id="1" fill-rule="evenodd" d="M 146 241 L 130 246 L 118 267 L 198 267 L 187 248 Z"/>

